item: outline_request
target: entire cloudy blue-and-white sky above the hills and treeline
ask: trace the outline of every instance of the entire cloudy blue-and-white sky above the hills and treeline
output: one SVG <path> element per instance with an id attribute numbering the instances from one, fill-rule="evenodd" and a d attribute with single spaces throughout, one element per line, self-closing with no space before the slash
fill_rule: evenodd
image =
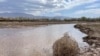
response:
<path id="1" fill-rule="evenodd" d="M 0 0 L 0 13 L 99 17 L 100 0 Z"/>

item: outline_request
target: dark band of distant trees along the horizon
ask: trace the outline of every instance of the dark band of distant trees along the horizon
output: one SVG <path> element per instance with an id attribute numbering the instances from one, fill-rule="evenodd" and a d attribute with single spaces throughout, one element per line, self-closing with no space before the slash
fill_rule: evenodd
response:
<path id="1" fill-rule="evenodd" d="M 41 19 L 34 19 L 34 18 L 25 18 L 25 17 L 16 17 L 16 18 L 4 18 L 0 17 L 0 22 L 60 22 L 60 21 L 88 21 L 88 22 L 95 22 L 100 21 L 100 17 L 98 18 L 87 18 L 87 17 L 81 17 L 81 18 L 64 18 L 64 19 L 57 19 L 57 18 L 41 18 Z"/>

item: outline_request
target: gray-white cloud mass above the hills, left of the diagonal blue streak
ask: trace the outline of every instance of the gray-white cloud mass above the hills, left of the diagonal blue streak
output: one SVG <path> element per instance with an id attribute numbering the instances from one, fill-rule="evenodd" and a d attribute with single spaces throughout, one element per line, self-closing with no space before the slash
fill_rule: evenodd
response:
<path id="1" fill-rule="evenodd" d="M 86 0 L 81 0 L 86 2 Z M 17 12 L 40 15 L 46 12 L 71 8 L 80 0 L 0 0 L 0 12 Z M 94 0 L 87 0 L 87 2 Z"/>

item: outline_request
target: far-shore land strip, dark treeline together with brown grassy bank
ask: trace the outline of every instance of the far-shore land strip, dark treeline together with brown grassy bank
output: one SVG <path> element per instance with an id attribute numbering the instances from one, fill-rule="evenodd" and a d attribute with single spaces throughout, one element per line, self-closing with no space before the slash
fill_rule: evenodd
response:
<path id="1" fill-rule="evenodd" d="M 24 17 L 16 17 L 16 18 L 4 18 L 0 17 L 0 27 L 16 27 L 16 26 L 37 26 L 37 25 L 48 25 L 48 24 L 66 24 L 66 23 L 93 23 L 100 22 L 100 18 L 24 18 Z"/>

